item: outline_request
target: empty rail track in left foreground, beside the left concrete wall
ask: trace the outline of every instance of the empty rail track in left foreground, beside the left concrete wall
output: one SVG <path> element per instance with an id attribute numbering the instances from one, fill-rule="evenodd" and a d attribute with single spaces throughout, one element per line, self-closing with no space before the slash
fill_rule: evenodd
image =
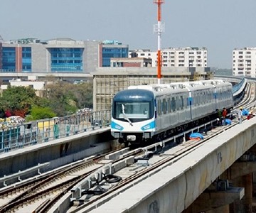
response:
<path id="1" fill-rule="evenodd" d="M 106 155 L 110 155 L 110 153 L 87 158 L 57 172 L 42 175 L 36 180 L 30 180 L 16 187 L 1 190 L 0 200 L 4 204 L 0 207 L 0 212 L 16 212 L 25 206 L 30 212 L 40 212 L 39 209 L 43 209 L 47 203 L 53 202 L 55 195 L 65 193 L 77 182 L 102 167 L 104 163 L 100 163 L 100 160 L 105 158 Z M 116 160 L 116 162 L 119 160 Z M 37 205 L 36 203 L 38 203 L 38 208 L 33 210 L 33 207 L 29 207 L 30 205 Z"/>

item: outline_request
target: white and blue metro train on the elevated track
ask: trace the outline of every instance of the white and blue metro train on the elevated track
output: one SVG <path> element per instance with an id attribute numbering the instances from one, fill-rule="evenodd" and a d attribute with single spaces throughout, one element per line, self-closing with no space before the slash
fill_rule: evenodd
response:
<path id="1" fill-rule="evenodd" d="M 232 84 L 223 80 L 129 86 L 114 95 L 111 134 L 125 145 L 160 141 L 233 105 Z"/>

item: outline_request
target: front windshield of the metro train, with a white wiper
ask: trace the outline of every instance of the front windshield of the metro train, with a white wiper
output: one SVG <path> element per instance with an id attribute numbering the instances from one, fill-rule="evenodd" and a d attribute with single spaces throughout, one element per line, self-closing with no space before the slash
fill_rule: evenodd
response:
<path id="1" fill-rule="evenodd" d="M 113 117 L 129 122 L 144 121 L 153 116 L 151 108 L 150 102 L 115 102 Z"/>

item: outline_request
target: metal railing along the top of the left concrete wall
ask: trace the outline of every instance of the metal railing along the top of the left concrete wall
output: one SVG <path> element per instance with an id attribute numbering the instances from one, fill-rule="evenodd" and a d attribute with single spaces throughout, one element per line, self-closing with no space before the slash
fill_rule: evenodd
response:
<path id="1" fill-rule="evenodd" d="M 71 116 L 4 126 L 0 129 L 0 153 L 107 127 L 110 126 L 110 120 L 110 110 L 85 111 Z"/>

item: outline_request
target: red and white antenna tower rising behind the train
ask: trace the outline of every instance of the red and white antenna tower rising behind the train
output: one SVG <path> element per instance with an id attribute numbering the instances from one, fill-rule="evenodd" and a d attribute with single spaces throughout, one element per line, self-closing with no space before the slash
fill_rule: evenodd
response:
<path id="1" fill-rule="evenodd" d="M 164 0 L 154 0 L 154 4 L 158 6 L 154 32 L 157 33 L 157 82 L 161 84 L 161 33 L 164 32 L 164 24 L 161 23 L 161 4 L 164 4 Z"/>

